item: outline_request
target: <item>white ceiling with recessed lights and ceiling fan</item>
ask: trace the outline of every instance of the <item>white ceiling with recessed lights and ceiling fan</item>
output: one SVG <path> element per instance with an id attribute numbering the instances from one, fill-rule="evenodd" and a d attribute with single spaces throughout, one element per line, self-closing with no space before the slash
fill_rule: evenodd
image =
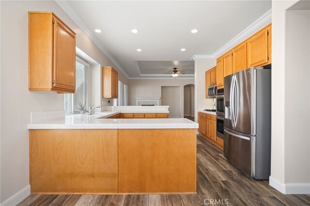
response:
<path id="1" fill-rule="evenodd" d="M 271 8 L 271 0 L 68 3 L 130 77 L 167 72 L 167 61 L 212 55 Z M 139 73 L 140 61 L 145 62 Z"/>

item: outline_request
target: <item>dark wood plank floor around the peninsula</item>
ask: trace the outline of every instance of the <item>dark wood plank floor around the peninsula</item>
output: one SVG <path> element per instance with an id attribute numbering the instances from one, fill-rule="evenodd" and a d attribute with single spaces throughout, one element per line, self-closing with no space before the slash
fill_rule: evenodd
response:
<path id="1" fill-rule="evenodd" d="M 213 201 L 213 202 L 212 202 Z M 215 202 L 217 201 L 217 202 Z M 214 204 L 211 204 L 214 203 Z M 268 181 L 250 179 L 229 164 L 222 152 L 197 137 L 197 194 L 150 195 L 36 195 L 19 205 L 31 206 L 309 206 L 310 195 L 284 195 Z"/>

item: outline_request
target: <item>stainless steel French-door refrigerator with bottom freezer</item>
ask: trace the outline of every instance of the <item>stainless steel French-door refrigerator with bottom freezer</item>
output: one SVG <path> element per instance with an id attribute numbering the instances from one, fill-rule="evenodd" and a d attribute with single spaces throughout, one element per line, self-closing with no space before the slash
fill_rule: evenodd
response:
<path id="1" fill-rule="evenodd" d="M 252 67 L 224 78 L 224 156 L 255 179 L 268 179 L 271 70 Z"/>

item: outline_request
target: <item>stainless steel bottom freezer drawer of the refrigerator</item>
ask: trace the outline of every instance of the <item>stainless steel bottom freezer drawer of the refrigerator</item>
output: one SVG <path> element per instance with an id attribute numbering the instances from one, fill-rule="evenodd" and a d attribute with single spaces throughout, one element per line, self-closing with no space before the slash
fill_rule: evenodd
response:
<path id="1" fill-rule="evenodd" d="M 255 177 L 255 136 L 225 128 L 224 157 L 248 176 Z"/>

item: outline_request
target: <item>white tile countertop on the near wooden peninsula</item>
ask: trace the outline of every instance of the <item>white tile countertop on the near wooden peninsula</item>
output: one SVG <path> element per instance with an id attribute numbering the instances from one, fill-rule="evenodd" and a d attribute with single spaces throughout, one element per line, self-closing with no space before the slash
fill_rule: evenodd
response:
<path id="1" fill-rule="evenodd" d="M 28 129 L 196 129 L 186 118 L 107 119 L 120 112 L 66 115 L 65 118 L 28 124 Z"/>

